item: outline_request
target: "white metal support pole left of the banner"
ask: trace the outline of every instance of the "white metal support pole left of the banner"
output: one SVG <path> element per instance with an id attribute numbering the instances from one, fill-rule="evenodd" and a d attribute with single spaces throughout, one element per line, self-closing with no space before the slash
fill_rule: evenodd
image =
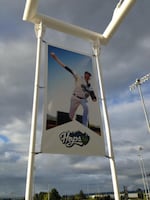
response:
<path id="1" fill-rule="evenodd" d="M 39 79 L 40 79 L 39 74 L 40 74 L 40 60 L 41 60 L 41 41 L 42 41 L 42 35 L 43 35 L 42 23 L 35 25 L 35 32 L 36 32 L 36 37 L 37 37 L 37 54 L 36 54 L 34 96 L 33 96 L 33 107 L 32 107 L 32 121 L 31 121 L 25 200 L 32 200 L 35 143 L 36 143 L 36 125 L 37 125 L 37 111 L 38 111 L 38 94 L 39 94 Z"/>

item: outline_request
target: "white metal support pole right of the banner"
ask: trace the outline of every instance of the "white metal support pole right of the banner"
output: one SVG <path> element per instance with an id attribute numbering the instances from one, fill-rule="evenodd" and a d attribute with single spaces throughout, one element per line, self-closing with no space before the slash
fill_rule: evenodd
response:
<path id="1" fill-rule="evenodd" d="M 109 125 L 106 99 L 105 99 L 104 88 L 103 88 L 102 69 L 101 69 L 101 66 L 99 63 L 99 54 L 100 54 L 99 48 L 100 48 L 100 44 L 98 41 L 96 41 L 93 45 L 93 51 L 94 51 L 95 62 L 96 62 L 96 67 L 97 67 L 99 89 L 100 89 L 102 108 L 103 108 L 104 125 L 105 125 L 106 140 L 107 140 L 107 146 L 108 146 L 108 158 L 110 161 L 110 168 L 111 168 L 111 175 L 112 175 L 112 182 L 113 182 L 113 189 L 114 189 L 114 197 L 115 197 L 115 200 L 119 200 L 120 193 L 119 193 L 119 189 L 118 189 L 115 158 L 114 158 L 114 153 L 113 153 L 110 125 Z"/>

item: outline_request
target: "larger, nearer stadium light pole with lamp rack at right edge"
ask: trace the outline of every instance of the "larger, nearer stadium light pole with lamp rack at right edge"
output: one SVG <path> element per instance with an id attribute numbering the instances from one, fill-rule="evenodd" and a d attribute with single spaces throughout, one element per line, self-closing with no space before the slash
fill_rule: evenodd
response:
<path id="1" fill-rule="evenodd" d="M 149 117 L 148 117 L 148 113 L 147 113 L 147 110 L 146 110 L 146 105 L 145 105 L 145 101 L 144 101 L 144 97 L 143 97 L 143 93 L 142 93 L 142 89 L 141 89 L 141 85 L 148 80 L 150 80 L 150 73 L 146 74 L 145 76 L 143 76 L 139 79 L 136 79 L 136 81 L 132 85 L 130 85 L 129 88 L 130 88 L 130 91 L 133 91 L 136 87 L 138 88 L 139 95 L 140 95 L 140 98 L 141 98 L 142 107 L 143 107 L 143 111 L 144 111 L 144 115 L 145 115 L 147 128 L 148 128 L 148 131 L 150 133 L 150 121 L 149 121 Z"/>

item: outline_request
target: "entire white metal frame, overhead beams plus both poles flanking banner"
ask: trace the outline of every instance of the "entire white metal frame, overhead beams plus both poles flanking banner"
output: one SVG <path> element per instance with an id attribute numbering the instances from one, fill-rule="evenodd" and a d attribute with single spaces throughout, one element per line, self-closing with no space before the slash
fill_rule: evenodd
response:
<path id="1" fill-rule="evenodd" d="M 110 160 L 110 168 L 112 173 L 112 182 L 114 188 L 115 200 L 120 199 L 118 180 L 115 168 L 115 158 L 113 153 L 113 146 L 111 140 L 110 126 L 108 120 L 107 106 L 104 95 L 104 88 L 102 83 L 102 72 L 100 69 L 98 56 L 99 48 L 101 45 L 106 45 L 110 38 L 113 36 L 118 26 L 121 24 L 124 17 L 127 15 L 131 7 L 136 0 L 120 0 L 117 4 L 112 20 L 108 24 L 103 34 L 81 28 L 72 24 L 65 23 L 61 20 L 54 19 L 49 16 L 38 13 L 38 0 L 26 0 L 25 10 L 23 14 L 23 20 L 29 21 L 36 26 L 37 36 L 37 59 L 36 59 L 36 71 L 35 71 L 35 85 L 34 85 L 34 98 L 33 98 L 33 110 L 32 110 L 32 122 L 31 122 L 31 135 L 29 146 L 29 160 L 27 169 L 27 181 L 26 181 L 26 200 L 32 199 L 32 187 L 33 187 L 33 170 L 34 170 L 34 156 L 35 156 L 35 141 L 36 141 L 36 124 L 37 124 L 37 107 L 38 107 L 38 85 L 39 85 L 39 71 L 40 71 L 40 56 L 41 56 L 41 41 L 43 36 L 43 25 L 45 27 L 55 29 L 66 34 L 70 34 L 79 38 L 83 38 L 93 42 L 93 49 L 96 55 L 95 60 L 97 69 L 99 69 L 99 84 L 100 93 L 102 96 L 102 105 L 104 111 L 104 123 L 106 129 L 106 139 L 108 145 L 108 158 Z"/>

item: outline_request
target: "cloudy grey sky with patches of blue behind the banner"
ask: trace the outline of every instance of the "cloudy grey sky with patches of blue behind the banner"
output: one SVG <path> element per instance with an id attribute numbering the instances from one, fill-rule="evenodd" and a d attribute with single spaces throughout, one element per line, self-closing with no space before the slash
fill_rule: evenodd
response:
<path id="1" fill-rule="evenodd" d="M 103 33 L 117 0 L 42 0 L 39 12 Z M 36 61 L 34 25 L 22 20 L 25 0 L 0 0 L 0 196 L 24 196 L 30 142 Z M 143 188 L 142 155 L 149 173 L 149 141 L 137 88 L 129 86 L 150 73 L 150 1 L 137 0 L 106 46 L 100 61 L 119 190 Z M 88 52 L 87 41 L 46 29 L 44 40 Z M 42 73 L 42 72 L 41 72 Z M 41 80 L 42 83 L 42 80 Z M 148 115 L 150 83 L 141 85 Z M 42 97 L 39 92 L 36 151 L 40 149 Z M 106 142 L 106 139 L 105 139 Z M 143 150 L 139 151 L 139 147 Z M 107 152 L 107 142 L 106 142 Z M 104 157 L 38 154 L 34 192 L 55 187 L 60 194 L 113 191 L 110 163 Z"/>

